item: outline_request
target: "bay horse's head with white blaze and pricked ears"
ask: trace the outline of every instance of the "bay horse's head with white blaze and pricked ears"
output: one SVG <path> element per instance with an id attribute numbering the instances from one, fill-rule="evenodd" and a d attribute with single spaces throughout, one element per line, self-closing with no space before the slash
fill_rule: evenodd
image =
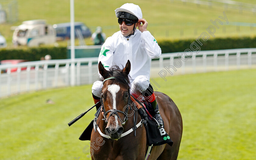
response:
<path id="1" fill-rule="evenodd" d="M 104 78 L 101 91 L 102 111 L 107 122 L 105 129 L 112 139 L 119 139 L 123 133 L 123 126 L 127 120 L 127 112 L 130 104 L 130 86 L 128 74 L 131 69 L 128 60 L 121 70 L 118 66 L 111 67 L 107 71 L 99 62 L 99 73 Z"/>

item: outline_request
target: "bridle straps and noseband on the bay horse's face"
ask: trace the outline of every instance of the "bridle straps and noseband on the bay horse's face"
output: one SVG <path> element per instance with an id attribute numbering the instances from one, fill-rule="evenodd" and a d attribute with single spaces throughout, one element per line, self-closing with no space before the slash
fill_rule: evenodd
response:
<path id="1" fill-rule="evenodd" d="M 106 79 L 104 79 L 104 81 L 103 81 L 102 83 L 104 84 L 104 82 L 107 81 L 107 80 L 109 80 L 109 79 L 115 79 L 115 77 L 106 78 Z M 126 81 L 126 83 L 127 83 L 127 81 Z M 129 109 L 130 109 L 130 110 L 133 110 L 132 107 L 130 106 L 130 104 L 131 104 L 130 88 L 128 88 L 128 104 L 126 105 L 125 112 L 120 111 L 120 110 L 116 110 L 116 109 L 111 109 L 111 110 L 106 111 L 106 110 L 105 110 L 105 107 L 104 107 L 104 104 L 103 104 L 103 98 L 102 98 L 102 96 L 101 96 L 101 106 L 102 106 L 102 112 L 103 112 L 103 117 L 104 117 L 104 119 L 102 119 L 102 120 L 105 120 L 105 122 L 108 123 L 108 120 L 109 120 L 109 118 L 110 118 L 112 115 L 113 115 L 113 116 L 114 116 L 114 115 L 117 115 L 117 117 L 118 117 L 118 118 L 120 119 L 120 121 L 122 122 L 122 125 L 124 125 L 125 122 L 128 120 L 128 115 L 127 115 L 128 110 L 129 110 Z M 108 119 L 107 119 L 107 114 L 108 114 L 108 112 L 110 112 L 110 115 L 109 115 L 109 117 L 108 117 Z M 118 115 L 118 112 L 125 115 L 123 121 L 121 120 L 120 116 Z"/>

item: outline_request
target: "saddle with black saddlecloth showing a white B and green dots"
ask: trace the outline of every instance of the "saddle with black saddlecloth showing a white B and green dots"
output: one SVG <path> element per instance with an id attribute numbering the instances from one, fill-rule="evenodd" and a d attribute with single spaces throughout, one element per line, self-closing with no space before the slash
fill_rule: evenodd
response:
<path id="1" fill-rule="evenodd" d="M 134 105 L 136 105 L 138 112 L 142 119 L 144 119 L 144 126 L 147 133 L 147 144 L 149 146 L 169 144 L 172 146 L 173 142 L 170 139 L 170 136 L 164 130 L 164 124 L 161 127 L 158 127 L 156 120 L 149 113 L 149 108 L 151 107 L 146 101 L 140 101 L 131 95 L 131 100 Z M 95 116 L 99 115 L 98 112 L 101 108 L 98 109 Z M 137 119 L 137 118 L 136 118 Z M 79 140 L 91 140 L 91 132 L 94 127 L 94 120 L 87 126 L 84 132 L 80 135 Z M 136 129 L 134 129 L 134 136 L 136 136 Z"/>

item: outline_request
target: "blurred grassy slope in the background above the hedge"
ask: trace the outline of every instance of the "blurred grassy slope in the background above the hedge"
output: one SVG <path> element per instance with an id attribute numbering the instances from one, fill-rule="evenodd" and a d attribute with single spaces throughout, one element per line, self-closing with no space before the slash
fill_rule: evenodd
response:
<path id="1" fill-rule="evenodd" d="M 237 0 L 238 1 L 238 0 Z M 12 47 L 11 26 L 18 26 L 25 20 L 45 19 L 49 24 L 64 23 L 70 21 L 69 0 L 55 1 L 33 1 L 17 0 L 19 21 L 14 24 L 1 24 L 0 32 L 7 39 L 8 46 Z M 224 5 L 214 5 L 209 8 L 206 5 L 196 5 L 192 3 L 176 2 L 171 0 L 130 0 L 127 1 L 140 6 L 143 17 L 148 21 L 148 30 L 156 39 L 186 39 L 197 38 L 207 27 L 212 25 L 210 20 L 215 20 L 223 16 L 225 11 L 229 22 L 247 22 L 255 23 L 255 14 L 252 12 L 225 9 Z M 254 0 L 247 2 L 255 4 Z M 82 21 L 95 30 L 97 26 L 103 27 L 107 37 L 119 30 L 117 18 L 114 10 L 121 5 L 123 1 L 109 0 L 105 1 L 75 1 L 75 21 Z M 224 20 L 222 20 L 224 21 Z M 226 23 L 226 22 L 225 22 Z M 224 23 L 224 24 L 225 24 Z M 255 36 L 255 27 L 240 27 L 224 24 L 216 30 L 216 37 L 229 36 Z M 181 35 L 180 32 L 183 32 Z M 87 39 L 87 44 L 92 42 Z M 66 45 L 60 43 L 60 45 Z M 78 43 L 76 43 L 78 45 Z"/>

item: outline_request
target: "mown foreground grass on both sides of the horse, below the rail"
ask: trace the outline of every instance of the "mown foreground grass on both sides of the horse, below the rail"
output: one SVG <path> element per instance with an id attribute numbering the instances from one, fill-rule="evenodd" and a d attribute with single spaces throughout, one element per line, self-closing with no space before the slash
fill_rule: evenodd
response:
<path id="1" fill-rule="evenodd" d="M 256 156 L 256 70 L 211 72 L 154 78 L 158 91 L 180 109 L 180 160 L 251 160 Z M 55 104 L 46 104 L 51 99 Z M 95 109 L 91 85 L 24 93 L 0 100 L 0 156 L 3 160 L 89 159 L 88 141 L 78 137 Z"/>

